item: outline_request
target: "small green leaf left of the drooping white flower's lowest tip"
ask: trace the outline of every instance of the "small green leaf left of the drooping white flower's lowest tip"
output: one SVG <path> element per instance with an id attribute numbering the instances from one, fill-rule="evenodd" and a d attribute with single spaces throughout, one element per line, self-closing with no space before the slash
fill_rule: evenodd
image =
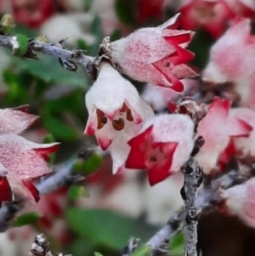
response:
<path id="1" fill-rule="evenodd" d="M 93 154 L 86 161 L 79 161 L 74 164 L 74 170 L 77 172 L 85 172 L 86 174 L 93 174 L 102 164 L 102 157 L 98 154 Z"/>

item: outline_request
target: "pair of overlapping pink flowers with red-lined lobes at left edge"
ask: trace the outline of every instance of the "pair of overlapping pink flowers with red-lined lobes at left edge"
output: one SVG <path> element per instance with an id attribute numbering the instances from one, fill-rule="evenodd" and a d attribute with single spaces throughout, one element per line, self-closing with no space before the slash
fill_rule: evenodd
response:
<path id="1" fill-rule="evenodd" d="M 51 173 L 48 154 L 59 148 L 59 143 L 37 144 L 19 135 L 38 119 L 27 111 L 27 105 L 0 110 L 0 203 L 13 201 L 14 195 L 38 202 L 32 181 Z"/>

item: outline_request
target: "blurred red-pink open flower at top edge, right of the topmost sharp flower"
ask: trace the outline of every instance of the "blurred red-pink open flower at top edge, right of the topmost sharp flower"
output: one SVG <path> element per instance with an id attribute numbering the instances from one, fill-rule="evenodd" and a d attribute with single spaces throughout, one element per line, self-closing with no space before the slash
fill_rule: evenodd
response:
<path id="1" fill-rule="evenodd" d="M 213 37 L 219 37 L 228 20 L 235 17 L 224 0 L 188 0 L 179 11 L 184 29 L 194 30 L 196 26 L 201 26 Z"/>

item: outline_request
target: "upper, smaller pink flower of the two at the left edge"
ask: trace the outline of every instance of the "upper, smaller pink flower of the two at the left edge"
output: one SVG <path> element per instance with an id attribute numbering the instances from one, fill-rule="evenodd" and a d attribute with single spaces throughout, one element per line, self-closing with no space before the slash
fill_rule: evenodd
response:
<path id="1" fill-rule="evenodd" d="M 0 109 L 0 134 L 20 134 L 39 117 L 27 113 L 28 105 Z"/>

